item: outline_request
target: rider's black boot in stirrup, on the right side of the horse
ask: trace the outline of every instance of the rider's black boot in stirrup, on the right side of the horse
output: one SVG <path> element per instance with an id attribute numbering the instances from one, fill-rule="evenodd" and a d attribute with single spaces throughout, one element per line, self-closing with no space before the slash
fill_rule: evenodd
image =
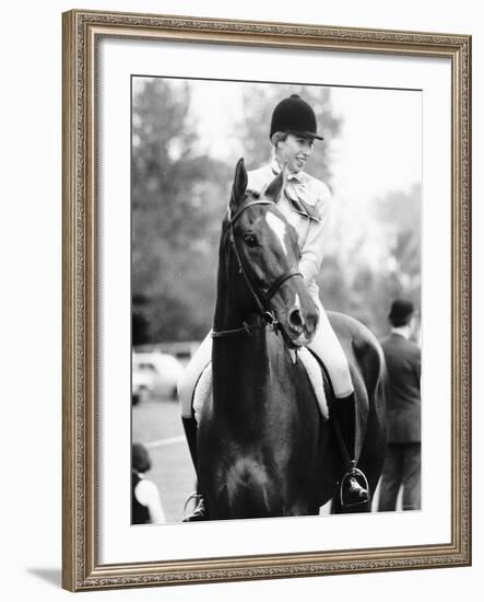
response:
<path id="1" fill-rule="evenodd" d="M 356 408 L 355 394 L 334 401 L 335 428 L 346 472 L 340 483 L 340 500 L 343 508 L 366 503 L 368 501 L 367 481 L 365 475 L 356 468 L 355 462 L 355 433 Z M 338 428 L 339 427 L 339 428 Z"/>

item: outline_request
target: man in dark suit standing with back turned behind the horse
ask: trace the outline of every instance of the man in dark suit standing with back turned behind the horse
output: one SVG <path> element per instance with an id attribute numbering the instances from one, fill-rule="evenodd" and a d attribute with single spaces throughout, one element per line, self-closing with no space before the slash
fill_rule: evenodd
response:
<path id="1" fill-rule="evenodd" d="M 403 510 L 421 508 L 421 350 L 409 340 L 414 323 L 411 301 L 391 305 L 391 334 L 381 341 L 389 377 L 389 444 L 381 476 L 380 512 L 396 510 L 403 487 Z"/>

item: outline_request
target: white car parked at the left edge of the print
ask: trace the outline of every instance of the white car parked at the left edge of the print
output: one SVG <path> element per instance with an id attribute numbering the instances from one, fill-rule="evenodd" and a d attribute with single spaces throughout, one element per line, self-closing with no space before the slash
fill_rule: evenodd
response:
<path id="1" fill-rule="evenodd" d="M 168 354 L 132 355 L 133 404 L 152 395 L 176 400 L 177 382 L 184 372 L 181 363 Z"/>

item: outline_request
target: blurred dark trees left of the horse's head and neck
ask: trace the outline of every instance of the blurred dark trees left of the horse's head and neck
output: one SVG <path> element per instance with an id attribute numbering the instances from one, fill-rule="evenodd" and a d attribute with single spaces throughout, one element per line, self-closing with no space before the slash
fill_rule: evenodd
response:
<path id="1" fill-rule="evenodd" d="M 212 321 L 217 230 L 229 175 L 220 161 L 197 154 L 189 107 L 186 82 L 135 81 L 133 311 L 147 321 L 145 338 L 152 341 L 201 337 Z"/>

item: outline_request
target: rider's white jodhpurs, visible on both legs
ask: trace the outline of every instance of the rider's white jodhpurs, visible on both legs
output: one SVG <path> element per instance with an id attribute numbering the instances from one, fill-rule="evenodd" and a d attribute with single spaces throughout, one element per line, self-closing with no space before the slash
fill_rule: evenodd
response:
<path id="1" fill-rule="evenodd" d="M 346 356 L 338 340 L 337 335 L 328 320 L 319 299 L 315 299 L 319 309 L 319 323 L 312 343 L 308 345 L 328 369 L 334 389 L 334 395 L 339 398 L 347 397 L 354 391 L 347 366 Z M 192 416 L 192 398 L 194 387 L 201 373 L 212 359 L 212 337 L 206 335 L 200 347 L 193 354 L 184 375 L 178 382 L 178 398 L 180 412 L 184 418 Z"/>

